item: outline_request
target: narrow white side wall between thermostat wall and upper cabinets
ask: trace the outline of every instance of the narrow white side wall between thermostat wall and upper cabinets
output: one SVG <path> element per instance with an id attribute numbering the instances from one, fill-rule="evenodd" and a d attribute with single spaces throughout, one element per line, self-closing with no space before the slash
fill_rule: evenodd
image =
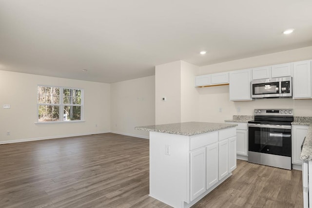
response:
<path id="1" fill-rule="evenodd" d="M 194 87 L 198 66 L 181 61 L 181 121 L 198 121 L 199 93 Z"/>

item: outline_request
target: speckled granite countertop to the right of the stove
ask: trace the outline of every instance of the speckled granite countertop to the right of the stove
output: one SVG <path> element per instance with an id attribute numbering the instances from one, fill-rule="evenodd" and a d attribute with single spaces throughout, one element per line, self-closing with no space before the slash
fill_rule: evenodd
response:
<path id="1" fill-rule="evenodd" d="M 312 161 L 312 117 L 294 116 L 292 125 L 309 125 L 306 140 L 304 141 L 300 159 Z"/>

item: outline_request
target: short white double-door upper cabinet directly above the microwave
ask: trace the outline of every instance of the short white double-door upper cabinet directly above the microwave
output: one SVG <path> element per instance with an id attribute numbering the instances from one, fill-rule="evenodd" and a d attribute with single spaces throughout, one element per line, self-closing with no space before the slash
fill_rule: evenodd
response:
<path id="1" fill-rule="evenodd" d="M 254 68 L 252 71 L 253 71 L 253 80 L 292 76 L 292 63 L 257 67 Z"/>

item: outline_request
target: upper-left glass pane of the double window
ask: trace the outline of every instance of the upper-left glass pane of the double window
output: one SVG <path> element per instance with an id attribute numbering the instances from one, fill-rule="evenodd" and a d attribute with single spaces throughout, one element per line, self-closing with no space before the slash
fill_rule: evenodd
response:
<path id="1" fill-rule="evenodd" d="M 38 86 L 38 103 L 59 104 L 59 88 Z"/>

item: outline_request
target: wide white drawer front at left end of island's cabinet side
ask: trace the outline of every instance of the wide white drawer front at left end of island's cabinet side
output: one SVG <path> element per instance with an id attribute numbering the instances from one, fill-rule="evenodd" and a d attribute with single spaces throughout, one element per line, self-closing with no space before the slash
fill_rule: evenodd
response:
<path id="1" fill-rule="evenodd" d="M 209 132 L 192 136 L 190 139 L 190 150 L 195 150 L 218 141 L 218 132 Z"/>

